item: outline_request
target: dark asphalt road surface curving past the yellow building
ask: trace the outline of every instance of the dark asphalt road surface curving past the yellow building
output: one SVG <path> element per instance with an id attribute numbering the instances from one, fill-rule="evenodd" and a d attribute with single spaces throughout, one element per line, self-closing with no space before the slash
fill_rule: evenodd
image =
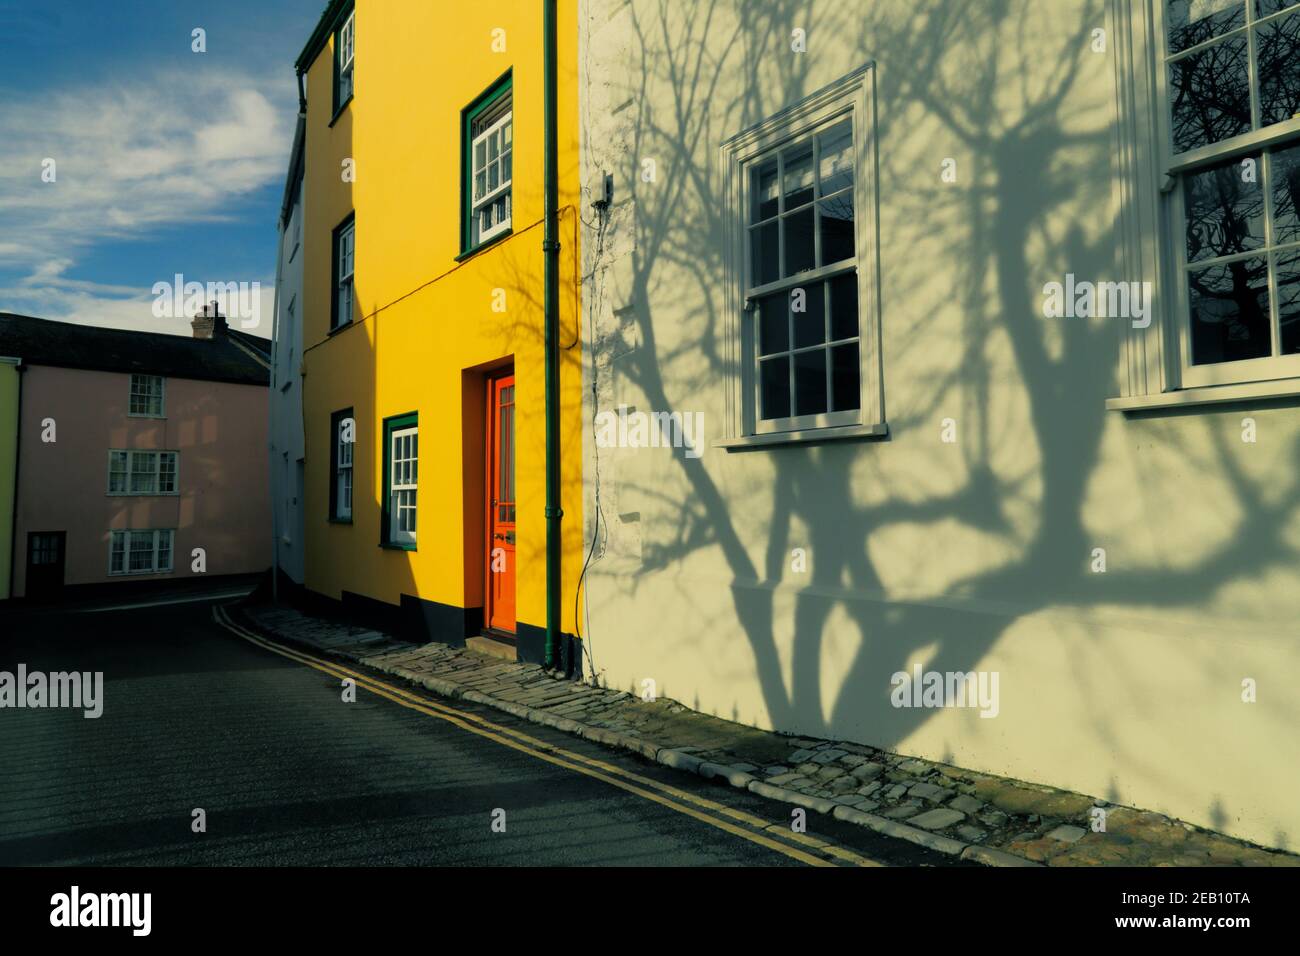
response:
<path id="1" fill-rule="evenodd" d="M 337 678 L 240 640 L 208 602 L 3 610 L 0 671 L 20 662 L 103 671 L 104 711 L 0 709 L 0 865 L 805 865 L 364 689 L 344 702 Z M 455 706 L 788 830 L 788 808 Z M 809 831 L 879 862 L 952 862 L 815 813 Z"/>

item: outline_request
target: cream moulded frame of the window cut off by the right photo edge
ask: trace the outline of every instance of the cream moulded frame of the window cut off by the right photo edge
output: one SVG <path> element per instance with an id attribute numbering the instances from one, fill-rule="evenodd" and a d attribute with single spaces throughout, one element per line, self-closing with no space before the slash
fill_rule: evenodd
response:
<path id="1" fill-rule="evenodd" d="M 1108 0 L 1108 17 L 1118 95 L 1119 137 L 1114 159 L 1118 261 L 1128 267 L 1122 278 L 1150 281 L 1153 297 L 1152 321 L 1145 329 L 1132 328 L 1128 321 L 1121 325 L 1119 394 L 1106 401 L 1106 408 L 1141 411 L 1300 395 L 1300 355 L 1190 363 L 1183 219 L 1184 173 L 1257 155 L 1286 140 L 1300 143 L 1300 118 L 1174 153 L 1166 3 Z M 1256 99 L 1253 90 L 1252 81 L 1252 99 Z M 1262 170 L 1260 183 L 1264 189 Z M 1271 285 L 1270 280 L 1275 313 Z"/>

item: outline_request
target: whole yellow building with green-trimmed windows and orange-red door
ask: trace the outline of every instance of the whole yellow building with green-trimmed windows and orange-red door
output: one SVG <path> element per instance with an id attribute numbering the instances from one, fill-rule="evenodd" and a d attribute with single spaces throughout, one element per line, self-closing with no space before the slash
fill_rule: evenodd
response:
<path id="1" fill-rule="evenodd" d="M 298 61 L 296 254 L 308 592 L 422 639 L 486 640 L 523 659 L 550 644 L 563 665 L 582 555 L 581 343 L 576 0 L 555 7 L 549 114 L 546 4 L 464 4 L 448 17 L 416 0 L 332 3 Z"/>

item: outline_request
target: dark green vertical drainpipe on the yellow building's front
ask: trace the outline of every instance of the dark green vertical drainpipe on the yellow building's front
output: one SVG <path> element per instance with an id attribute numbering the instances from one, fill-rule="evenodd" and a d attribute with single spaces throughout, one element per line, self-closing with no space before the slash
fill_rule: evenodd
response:
<path id="1" fill-rule="evenodd" d="M 556 0 L 542 0 L 543 33 L 543 87 L 546 108 L 546 159 L 545 177 L 545 216 L 546 230 L 542 251 L 546 256 L 546 280 L 543 316 L 545 330 L 542 346 L 546 360 L 546 657 L 547 667 L 556 666 L 560 646 L 560 351 L 559 351 L 559 312 L 560 312 L 560 243 L 559 243 L 559 173 L 556 157 L 559 152 L 559 130 L 555 116 L 556 107 L 556 40 L 555 40 Z"/>

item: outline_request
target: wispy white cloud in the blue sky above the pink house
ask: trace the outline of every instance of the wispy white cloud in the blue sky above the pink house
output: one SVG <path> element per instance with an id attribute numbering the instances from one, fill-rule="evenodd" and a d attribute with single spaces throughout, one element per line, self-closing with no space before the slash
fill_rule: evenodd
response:
<path id="1" fill-rule="evenodd" d="M 0 242 L 0 269 L 25 273 L 0 287 L 0 310 L 146 328 L 143 306 L 157 325 L 147 291 L 66 273 L 98 243 L 229 220 L 238 200 L 278 183 L 292 139 L 291 86 L 282 72 L 173 72 L 0 100 L 0 221 L 10 239 L 21 237 Z M 42 181 L 47 157 L 55 182 Z"/>

